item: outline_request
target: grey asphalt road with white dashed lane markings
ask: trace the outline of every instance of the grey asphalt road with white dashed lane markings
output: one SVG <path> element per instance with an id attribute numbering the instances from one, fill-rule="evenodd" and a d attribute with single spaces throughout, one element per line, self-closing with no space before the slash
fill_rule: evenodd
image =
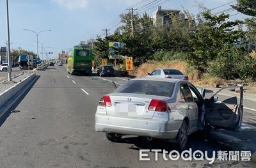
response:
<path id="1" fill-rule="evenodd" d="M 50 66 L 36 72 L 38 79 L 0 127 L 0 167 L 256 167 L 255 162 L 139 160 L 139 149 L 166 149 L 175 144 L 148 142 L 126 136 L 120 143 L 109 142 L 94 130 L 95 110 L 100 96 L 110 93 L 127 78 L 72 76 L 65 67 Z M 254 114 L 244 111 L 244 116 Z M 255 119 L 255 116 L 251 117 Z M 2 119 L 3 120 L 3 119 Z M 255 121 L 255 120 L 254 120 Z M 189 136 L 193 151 L 256 151 L 254 121 L 244 120 L 243 132 L 214 130 Z M 252 123 L 252 124 L 250 124 Z M 255 124 L 255 123 L 254 123 Z"/>

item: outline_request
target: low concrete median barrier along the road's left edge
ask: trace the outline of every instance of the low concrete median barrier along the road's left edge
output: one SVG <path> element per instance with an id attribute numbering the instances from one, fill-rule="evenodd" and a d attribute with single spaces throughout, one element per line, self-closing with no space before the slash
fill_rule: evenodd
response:
<path id="1" fill-rule="evenodd" d="M 0 117 L 3 116 L 4 110 L 10 108 L 10 105 L 12 105 L 11 100 L 13 98 L 15 99 L 19 93 L 21 95 L 22 89 L 24 89 L 24 87 L 28 85 L 35 76 L 36 73 L 31 73 L 31 75 L 23 79 L 21 82 L 18 82 L 11 88 L 6 89 L 3 93 L 0 93 Z"/>

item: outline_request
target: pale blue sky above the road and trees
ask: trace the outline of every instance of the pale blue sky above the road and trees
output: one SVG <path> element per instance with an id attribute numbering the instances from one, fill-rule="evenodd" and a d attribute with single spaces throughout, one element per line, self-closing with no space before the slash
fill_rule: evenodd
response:
<path id="1" fill-rule="evenodd" d="M 232 0 L 197 0 L 207 8 L 216 8 L 212 13 L 230 8 L 235 4 Z M 38 42 L 44 43 L 46 52 L 53 52 L 51 57 L 57 57 L 62 50 L 67 51 L 81 41 L 87 41 L 102 34 L 102 29 L 111 28 L 113 33 L 113 20 L 130 6 L 141 9 L 140 15 L 147 12 L 152 16 L 160 4 L 162 9 L 189 10 L 191 13 L 199 13 L 195 0 L 8 0 L 10 19 L 10 42 L 12 49 L 31 50 L 36 53 L 35 32 L 38 34 Z M 227 4 L 230 3 L 230 4 Z M 134 4 L 137 4 L 134 6 Z M 225 5 L 226 4 L 226 5 Z M 143 7 L 147 7 L 143 9 Z M 140 10 L 138 10 L 140 11 Z M 237 11 L 230 11 L 234 15 Z M 231 20 L 244 19 L 246 16 L 237 14 L 230 17 Z M 115 22 L 114 22 L 115 23 Z M 6 46 L 6 0 L 0 1 L 0 45 Z M 38 44 L 39 55 L 42 45 Z"/>

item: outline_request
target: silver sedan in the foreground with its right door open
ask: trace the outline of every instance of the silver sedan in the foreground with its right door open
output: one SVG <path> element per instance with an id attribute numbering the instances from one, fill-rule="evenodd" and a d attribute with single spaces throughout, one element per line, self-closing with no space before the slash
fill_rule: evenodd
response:
<path id="1" fill-rule="evenodd" d="M 128 80 L 100 98 L 95 130 L 106 132 L 113 142 L 123 135 L 138 135 L 177 142 L 184 149 L 188 135 L 204 126 L 241 131 L 243 87 L 240 89 L 239 99 L 218 101 L 216 95 L 204 98 L 205 89 L 195 88 L 188 80 Z"/>

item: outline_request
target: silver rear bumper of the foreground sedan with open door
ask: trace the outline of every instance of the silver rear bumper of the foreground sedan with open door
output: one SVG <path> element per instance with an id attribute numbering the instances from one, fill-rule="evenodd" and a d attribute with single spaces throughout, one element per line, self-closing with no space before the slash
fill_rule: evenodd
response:
<path id="1" fill-rule="evenodd" d="M 159 119 L 118 118 L 95 115 L 96 132 L 111 132 L 122 135 L 138 135 L 158 139 L 175 139 L 179 130 L 171 130 L 171 123 Z"/>

